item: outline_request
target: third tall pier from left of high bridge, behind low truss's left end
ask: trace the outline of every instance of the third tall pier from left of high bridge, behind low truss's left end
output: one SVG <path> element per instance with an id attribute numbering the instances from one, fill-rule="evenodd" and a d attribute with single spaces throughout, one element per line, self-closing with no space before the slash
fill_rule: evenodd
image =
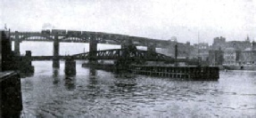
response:
<path id="1" fill-rule="evenodd" d="M 97 56 L 97 41 L 95 35 L 92 35 L 90 43 L 89 43 L 89 63 L 95 63 L 97 60 L 95 57 Z"/>

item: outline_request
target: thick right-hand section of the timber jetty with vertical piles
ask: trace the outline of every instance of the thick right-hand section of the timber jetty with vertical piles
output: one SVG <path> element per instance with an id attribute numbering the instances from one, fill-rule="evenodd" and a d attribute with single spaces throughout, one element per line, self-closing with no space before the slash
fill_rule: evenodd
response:
<path id="1" fill-rule="evenodd" d="M 195 81 L 219 80 L 219 67 L 170 67 L 132 65 L 130 70 L 137 75 L 152 75 Z"/>

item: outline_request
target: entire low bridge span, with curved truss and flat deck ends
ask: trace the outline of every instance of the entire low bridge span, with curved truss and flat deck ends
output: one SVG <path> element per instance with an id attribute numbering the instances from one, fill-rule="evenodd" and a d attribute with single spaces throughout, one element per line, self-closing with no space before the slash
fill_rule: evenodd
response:
<path id="1" fill-rule="evenodd" d="M 33 56 L 31 57 L 34 61 L 40 60 L 53 60 L 54 56 Z M 111 50 L 104 50 L 104 51 L 93 51 L 93 52 L 85 52 L 85 53 L 78 53 L 70 56 L 59 56 L 59 59 L 76 59 L 76 60 L 115 60 L 115 59 L 141 59 L 144 61 L 165 61 L 169 63 L 174 62 L 185 62 L 185 63 L 193 63 L 197 60 L 192 59 L 174 59 L 172 57 L 166 56 L 161 53 L 156 53 L 154 51 L 126 51 L 124 49 L 111 49 Z"/>

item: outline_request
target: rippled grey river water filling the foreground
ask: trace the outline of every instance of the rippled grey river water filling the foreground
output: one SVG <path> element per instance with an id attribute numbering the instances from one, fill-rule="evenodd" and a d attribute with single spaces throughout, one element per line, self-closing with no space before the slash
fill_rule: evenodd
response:
<path id="1" fill-rule="evenodd" d="M 217 82 L 124 78 L 81 67 L 66 77 L 52 61 L 34 61 L 21 78 L 21 117 L 256 117 L 256 72 L 220 72 Z"/>

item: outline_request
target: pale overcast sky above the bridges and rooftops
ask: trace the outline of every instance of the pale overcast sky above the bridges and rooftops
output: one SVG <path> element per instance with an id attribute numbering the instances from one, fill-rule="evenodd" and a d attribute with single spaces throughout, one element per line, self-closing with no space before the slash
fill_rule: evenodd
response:
<path id="1" fill-rule="evenodd" d="M 0 28 L 61 28 L 212 43 L 256 39 L 254 0 L 0 0 Z"/>

